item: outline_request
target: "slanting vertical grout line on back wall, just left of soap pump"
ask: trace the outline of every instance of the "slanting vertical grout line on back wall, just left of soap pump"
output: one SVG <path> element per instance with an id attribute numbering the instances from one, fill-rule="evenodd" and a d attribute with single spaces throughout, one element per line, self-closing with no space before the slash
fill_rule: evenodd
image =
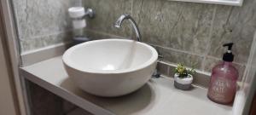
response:
<path id="1" fill-rule="evenodd" d="M 214 20 L 215 20 L 215 16 L 216 16 L 216 11 L 217 11 L 217 5 L 215 5 L 214 7 L 214 11 L 213 11 L 213 14 L 212 14 L 212 22 L 211 22 L 211 28 L 210 28 L 210 33 L 209 33 L 209 37 L 208 37 L 208 42 L 210 45 L 207 45 L 207 52 L 205 55 L 203 55 L 204 59 L 202 60 L 202 63 L 201 63 L 201 69 L 203 71 L 205 71 L 206 69 L 206 61 L 207 61 L 207 55 L 209 54 L 210 50 L 211 50 L 211 44 L 212 44 L 212 30 L 213 30 L 213 23 L 214 23 Z"/>

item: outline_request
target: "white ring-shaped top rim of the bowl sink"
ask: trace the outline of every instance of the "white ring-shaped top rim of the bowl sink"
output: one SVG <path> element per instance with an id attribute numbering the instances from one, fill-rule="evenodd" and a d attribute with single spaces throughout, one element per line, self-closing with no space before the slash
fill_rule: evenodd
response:
<path id="1" fill-rule="evenodd" d="M 100 42 L 104 42 L 104 41 L 123 41 L 123 42 L 136 42 L 139 43 L 145 47 L 147 47 L 149 50 L 152 51 L 152 57 L 147 60 L 146 62 L 144 62 L 143 64 L 136 66 L 136 67 L 132 67 L 132 68 L 125 68 L 122 70 L 96 70 L 96 69 L 81 69 L 78 67 L 75 67 L 75 65 L 73 64 L 73 62 L 71 62 L 69 60 L 69 55 L 73 52 L 73 50 L 75 49 L 79 49 L 79 47 L 90 44 L 90 43 L 100 43 Z M 142 42 L 137 42 L 135 40 L 130 40 L 130 39 L 119 39 L 119 38 L 111 38 L 111 39 L 100 39 L 100 40 L 93 40 L 93 41 L 89 41 L 86 43 L 80 43 L 78 45 L 75 45 L 69 49 L 67 49 L 64 53 L 64 55 L 62 56 L 62 61 L 65 65 L 80 71 L 80 72 L 88 72 L 88 73 L 96 73 L 96 74 L 119 74 L 119 73 L 127 73 L 127 72 L 136 72 L 139 70 L 142 70 L 143 68 L 146 68 L 147 66 L 150 66 L 152 64 L 154 64 L 154 61 L 156 61 L 158 59 L 158 53 L 157 51 L 150 45 L 148 45 L 147 43 L 142 43 Z"/>

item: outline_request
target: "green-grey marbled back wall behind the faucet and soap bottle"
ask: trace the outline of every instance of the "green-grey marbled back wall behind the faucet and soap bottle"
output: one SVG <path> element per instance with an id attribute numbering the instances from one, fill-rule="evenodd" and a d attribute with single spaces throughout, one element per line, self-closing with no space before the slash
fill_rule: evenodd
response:
<path id="1" fill-rule="evenodd" d="M 203 72 L 211 72 L 222 60 L 226 50 L 222 44 L 234 42 L 240 79 L 256 30 L 255 6 L 255 0 L 244 0 L 242 7 L 168 0 L 84 0 L 84 7 L 96 9 L 86 29 L 90 37 L 131 37 L 127 23 L 121 30 L 113 27 L 120 14 L 131 14 L 143 42 L 158 49 L 164 62 L 182 62 Z"/>

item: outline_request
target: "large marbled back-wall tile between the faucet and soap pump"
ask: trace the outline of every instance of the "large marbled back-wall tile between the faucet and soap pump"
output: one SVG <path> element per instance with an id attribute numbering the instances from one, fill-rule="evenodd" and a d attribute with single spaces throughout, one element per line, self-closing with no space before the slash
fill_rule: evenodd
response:
<path id="1" fill-rule="evenodd" d="M 214 5 L 135 0 L 132 9 L 143 42 L 206 54 Z"/>

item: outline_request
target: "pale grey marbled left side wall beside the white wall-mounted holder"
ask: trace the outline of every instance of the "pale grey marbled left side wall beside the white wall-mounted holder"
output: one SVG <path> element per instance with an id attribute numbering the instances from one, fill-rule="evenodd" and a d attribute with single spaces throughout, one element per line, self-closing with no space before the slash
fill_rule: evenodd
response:
<path id="1" fill-rule="evenodd" d="M 72 0 L 12 0 L 22 52 L 71 40 Z"/>

